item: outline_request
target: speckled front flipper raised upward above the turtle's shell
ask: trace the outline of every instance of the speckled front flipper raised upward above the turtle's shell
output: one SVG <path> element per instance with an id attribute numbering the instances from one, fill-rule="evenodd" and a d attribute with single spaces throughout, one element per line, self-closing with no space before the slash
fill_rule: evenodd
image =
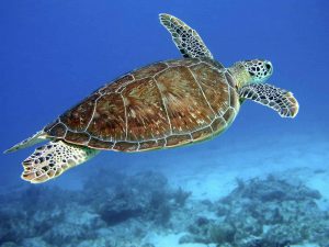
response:
<path id="1" fill-rule="evenodd" d="M 170 14 L 161 13 L 159 18 L 161 24 L 169 31 L 173 43 L 184 57 L 207 57 L 213 59 L 212 53 L 195 30 Z"/>

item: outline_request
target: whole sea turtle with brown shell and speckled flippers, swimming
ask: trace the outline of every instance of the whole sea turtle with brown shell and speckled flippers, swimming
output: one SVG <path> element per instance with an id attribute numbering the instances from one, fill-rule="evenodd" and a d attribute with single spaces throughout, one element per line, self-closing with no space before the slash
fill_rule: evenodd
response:
<path id="1" fill-rule="evenodd" d="M 195 30 L 170 14 L 161 24 L 184 58 L 154 63 L 94 91 L 9 151 L 49 139 L 23 161 L 22 179 L 45 182 L 100 150 L 144 151 L 209 139 L 235 120 L 246 99 L 294 117 L 293 93 L 264 83 L 268 60 L 243 60 L 225 68 Z"/>

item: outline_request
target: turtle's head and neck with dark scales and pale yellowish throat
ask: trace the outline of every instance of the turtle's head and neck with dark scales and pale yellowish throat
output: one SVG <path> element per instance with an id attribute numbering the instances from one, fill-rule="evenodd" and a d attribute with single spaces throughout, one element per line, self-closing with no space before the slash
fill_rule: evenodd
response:
<path id="1" fill-rule="evenodd" d="M 240 88 L 249 83 L 265 82 L 273 74 L 273 66 L 271 61 L 263 59 L 243 60 L 236 63 L 230 71 Z"/>

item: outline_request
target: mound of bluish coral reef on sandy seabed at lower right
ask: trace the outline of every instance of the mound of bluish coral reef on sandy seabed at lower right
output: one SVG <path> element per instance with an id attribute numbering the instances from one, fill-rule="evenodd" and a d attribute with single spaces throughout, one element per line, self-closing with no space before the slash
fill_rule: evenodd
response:
<path id="1" fill-rule="evenodd" d="M 181 243 L 219 246 L 285 247 L 329 239 L 329 213 L 317 205 L 320 193 L 300 182 L 269 176 L 238 180 L 238 187 L 212 205 L 218 218 L 196 218 Z M 202 222 L 202 224 L 200 224 Z"/>

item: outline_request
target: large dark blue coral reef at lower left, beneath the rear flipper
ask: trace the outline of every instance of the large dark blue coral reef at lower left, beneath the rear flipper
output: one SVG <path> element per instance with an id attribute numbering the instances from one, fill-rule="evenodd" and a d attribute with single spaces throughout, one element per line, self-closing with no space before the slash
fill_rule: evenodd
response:
<path id="1" fill-rule="evenodd" d="M 190 195 L 157 172 L 97 173 L 82 191 L 32 186 L 1 194 L 0 246 L 141 245 L 149 228 L 170 225 Z"/>

